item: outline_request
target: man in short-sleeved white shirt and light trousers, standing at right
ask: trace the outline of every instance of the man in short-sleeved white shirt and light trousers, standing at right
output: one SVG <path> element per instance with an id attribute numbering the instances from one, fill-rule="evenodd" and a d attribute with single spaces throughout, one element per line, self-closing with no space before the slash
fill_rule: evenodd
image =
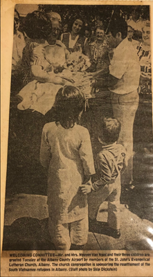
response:
<path id="1" fill-rule="evenodd" d="M 127 23 L 124 19 L 112 20 L 107 32 L 108 44 L 114 48 L 109 66 L 109 90 L 114 117 L 121 123 L 118 143 L 127 150 L 127 169 L 122 184 L 133 181 L 133 125 L 138 109 L 138 85 L 140 65 L 136 51 L 127 39 Z"/>

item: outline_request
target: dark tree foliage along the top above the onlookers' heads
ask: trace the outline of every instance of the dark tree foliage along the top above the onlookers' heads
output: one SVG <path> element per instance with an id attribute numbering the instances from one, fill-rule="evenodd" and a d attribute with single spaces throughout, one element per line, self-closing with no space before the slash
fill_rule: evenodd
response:
<path id="1" fill-rule="evenodd" d="M 113 17 L 129 17 L 133 8 L 136 8 L 145 19 L 150 17 L 150 6 L 117 6 L 117 5 L 39 5 L 39 10 L 44 12 L 57 12 L 62 17 L 62 22 L 72 23 L 74 18 L 81 17 L 86 25 L 94 26 L 96 20 L 101 19 L 105 28 L 109 23 L 111 13 Z"/>

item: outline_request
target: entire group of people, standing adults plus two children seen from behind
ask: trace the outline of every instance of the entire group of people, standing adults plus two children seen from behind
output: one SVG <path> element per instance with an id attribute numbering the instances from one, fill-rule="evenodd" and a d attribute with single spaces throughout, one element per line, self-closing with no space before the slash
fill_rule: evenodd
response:
<path id="1" fill-rule="evenodd" d="M 95 224 L 105 199 L 108 234 L 120 238 L 120 178 L 123 185 L 132 184 L 138 93 L 151 95 L 150 22 L 138 18 L 135 10 L 129 19 L 112 17 L 107 29 L 102 19 L 90 29 L 79 16 L 70 25 L 62 24 L 56 12 L 34 11 L 26 16 L 21 33 L 19 20 L 15 10 L 11 93 L 20 96 L 20 110 L 44 115 L 54 110 L 42 131 L 40 161 L 48 169 L 48 226 L 55 249 L 82 249 L 88 204 L 90 223 Z M 74 81 L 73 53 L 79 56 L 82 86 Z M 90 108 L 92 98 L 95 106 Z M 101 145 L 96 172 L 92 132 Z"/>

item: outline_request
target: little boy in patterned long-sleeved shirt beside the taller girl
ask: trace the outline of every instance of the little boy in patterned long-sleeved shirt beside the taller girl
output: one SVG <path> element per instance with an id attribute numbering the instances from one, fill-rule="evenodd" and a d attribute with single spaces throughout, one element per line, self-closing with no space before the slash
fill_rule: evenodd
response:
<path id="1" fill-rule="evenodd" d="M 102 150 L 97 156 L 98 180 L 91 188 L 84 185 L 83 193 L 89 193 L 89 223 L 96 224 L 100 204 L 108 201 L 107 234 L 120 238 L 120 171 L 125 162 L 125 148 L 117 144 L 120 123 L 115 118 L 104 118 L 98 140 Z"/>

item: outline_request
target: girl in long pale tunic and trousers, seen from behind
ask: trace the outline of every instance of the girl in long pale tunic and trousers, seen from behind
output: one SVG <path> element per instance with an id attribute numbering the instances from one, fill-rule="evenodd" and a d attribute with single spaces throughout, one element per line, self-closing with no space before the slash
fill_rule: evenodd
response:
<path id="1" fill-rule="evenodd" d="M 82 249 L 88 237 L 87 195 L 80 186 L 95 174 L 89 132 L 78 125 L 84 96 L 62 87 L 55 98 L 56 122 L 44 125 L 40 149 L 48 168 L 48 228 L 57 250 Z"/>

